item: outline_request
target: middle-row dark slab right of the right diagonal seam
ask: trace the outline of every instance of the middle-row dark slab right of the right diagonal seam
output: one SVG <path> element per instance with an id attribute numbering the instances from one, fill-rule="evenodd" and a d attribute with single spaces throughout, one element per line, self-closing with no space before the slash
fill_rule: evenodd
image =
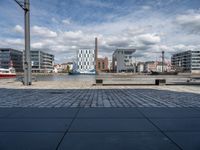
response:
<path id="1" fill-rule="evenodd" d="M 163 131 L 200 131 L 200 118 L 151 120 Z"/>

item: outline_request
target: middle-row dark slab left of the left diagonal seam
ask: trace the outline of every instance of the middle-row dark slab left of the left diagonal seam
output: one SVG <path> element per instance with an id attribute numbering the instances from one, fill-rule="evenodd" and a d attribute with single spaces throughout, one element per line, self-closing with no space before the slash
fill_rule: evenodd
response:
<path id="1" fill-rule="evenodd" d="M 0 119 L 0 132 L 63 132 L 71 119 Z"/>

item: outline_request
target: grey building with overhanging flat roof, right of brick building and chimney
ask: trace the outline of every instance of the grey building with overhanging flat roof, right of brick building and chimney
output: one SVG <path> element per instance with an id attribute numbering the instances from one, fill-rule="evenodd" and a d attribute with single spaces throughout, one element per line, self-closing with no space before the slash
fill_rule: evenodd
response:
<path id="1" fill-rule="evenodd" d="M 133 72 L 136 69 L 133 61 L 135 49 L 117 49 L 113 53 L 113 71 L 114 72 Z"/>

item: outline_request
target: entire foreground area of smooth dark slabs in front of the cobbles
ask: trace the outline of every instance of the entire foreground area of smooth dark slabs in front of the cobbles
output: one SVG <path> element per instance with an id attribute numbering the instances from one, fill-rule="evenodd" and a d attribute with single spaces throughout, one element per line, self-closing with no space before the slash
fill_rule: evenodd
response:
<path id="1" fill-rule="evenodd" d="M 199 150 L 199 108 L 0 108 L 1 150 Z"/>

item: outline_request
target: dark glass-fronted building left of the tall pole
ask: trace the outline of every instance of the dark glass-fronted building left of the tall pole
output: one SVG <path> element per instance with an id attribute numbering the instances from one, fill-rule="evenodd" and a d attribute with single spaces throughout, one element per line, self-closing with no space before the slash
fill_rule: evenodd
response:
<path id="1" fill-rule="evenodd" d="M 15 68 L 16 72 L 23 72 L 23 52 L 11 48 L 0 49 L 0 68 Z"/>

